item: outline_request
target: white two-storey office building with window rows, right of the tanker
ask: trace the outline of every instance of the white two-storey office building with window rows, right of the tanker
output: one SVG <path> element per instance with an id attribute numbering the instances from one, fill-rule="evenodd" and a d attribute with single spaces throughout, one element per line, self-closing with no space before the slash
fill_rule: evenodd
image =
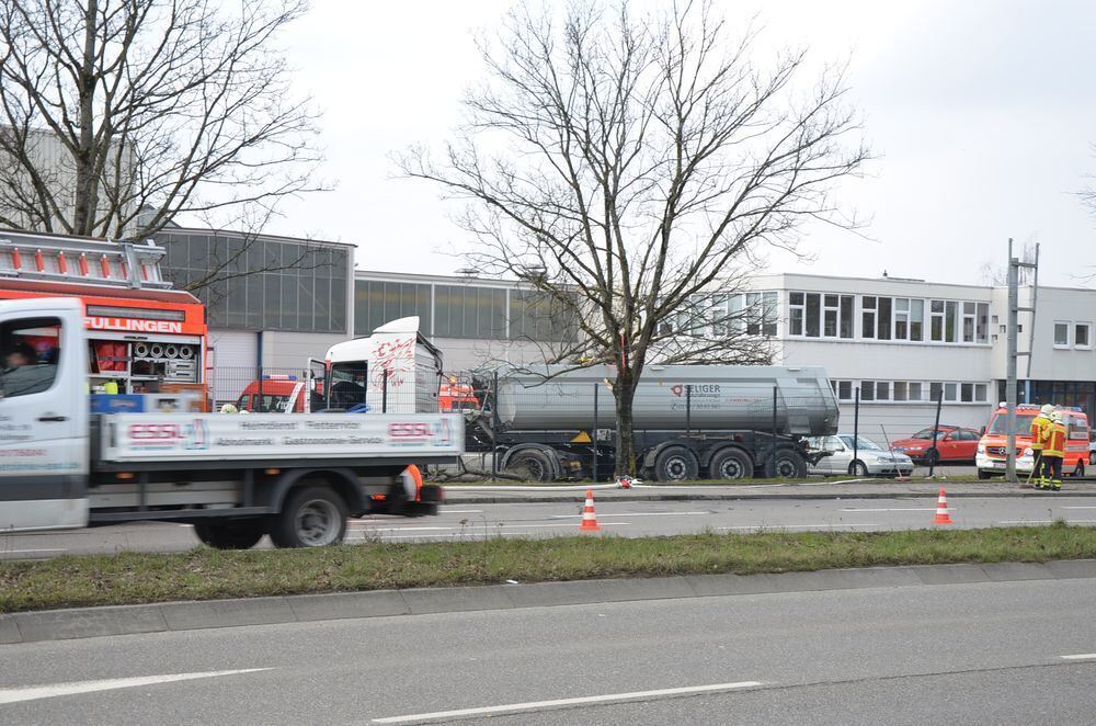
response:
<path id="1" fill-rule="evenodd" d="M 775 363 L 822 365 L 852 431 L 859 389 L 859 428 L 884 443 L 933 426 L 979 429 L 1004 398 L 1007 290 L 921 280 L 763 275 L 752 281 L 764 310 Z M 765 295 L 767 293 L 767 295 Z M 731 309 L 746 295 L 732 296 Z M 1032 304 L 1020 290 L 1020 307 Z M 1096 291 L 1040 287 L 1036 311 L 1019 317 L 1019 399 L 1096 404 L 1093 320 Z M 1028 367 L 1030 364 L 1030 368 Z"/>

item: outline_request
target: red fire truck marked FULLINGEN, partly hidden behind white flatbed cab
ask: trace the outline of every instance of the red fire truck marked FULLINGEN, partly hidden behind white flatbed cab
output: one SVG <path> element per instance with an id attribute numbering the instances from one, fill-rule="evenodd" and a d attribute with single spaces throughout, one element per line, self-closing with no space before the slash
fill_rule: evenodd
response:
<path id="1" fill-rule="evenodd" d="M 164 254 L 151 240 L 0 230 L 0 299 L 83 302 L 92 393 L 194 392 L 204 404 L 205 308 L 163 279 Z M 33 347 L 42 362 L 54 354 L 47 339 Z"/>

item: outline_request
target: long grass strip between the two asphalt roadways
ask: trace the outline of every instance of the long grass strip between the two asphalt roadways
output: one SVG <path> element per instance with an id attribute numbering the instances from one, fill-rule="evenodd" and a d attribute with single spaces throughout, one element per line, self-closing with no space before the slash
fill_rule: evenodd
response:
<path id="1" fill-rule="evenodd" d="M 316 549 L 119 553 L 0 563 L 0 612 L 408 587 L 1096 558 L 1096 528 L 703 533 Z"/>

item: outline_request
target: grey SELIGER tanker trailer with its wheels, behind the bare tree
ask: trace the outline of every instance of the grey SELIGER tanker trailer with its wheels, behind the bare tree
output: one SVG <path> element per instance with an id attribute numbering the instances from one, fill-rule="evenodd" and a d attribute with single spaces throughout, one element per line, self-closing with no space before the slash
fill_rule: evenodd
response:
<path id="1" fill-rule="evenodd" d="M 500 368 L 469 451 L 493 445 L 500 468 L 539 481 L 610 476 L 615 377 L 612 366 Z M 836 433 L 837 401 L 820 367 L 649 365 L 632 420 L 647 478 L 799 478 L 821 456 L 803 439 Z"/>

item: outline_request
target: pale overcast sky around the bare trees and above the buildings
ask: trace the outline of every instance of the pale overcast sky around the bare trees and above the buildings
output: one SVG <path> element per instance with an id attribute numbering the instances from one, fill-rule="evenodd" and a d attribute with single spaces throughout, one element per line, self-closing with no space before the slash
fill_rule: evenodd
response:
<path id="1" fill-rule="evenodd" d="M 466 243 L 424 182 L 393 179 L 388 155 L 441 145 L 482 73 L 472 37 L 511 2 L 315 0 L 286 41 L 299 88 L 323 113 L 333 192 L 285 207 L 276 229 L 353 242 L 364 270 L 449 274 Z M 769 272 L 981 283 L 1006 240 L 1042 243 L 1040 282 L 1092 286 L 1096 217 L 1076 192 L 1096 173 L 1096 3 L 1084 0 L 717 0 L 760 12 L 770 47 L 852 54 L 848 81 L 880 156 L 842 195 L 870 215 L 871 239 L 809 229 L 803 262 Z M 761 46 L 761 50 L 766 48 Z"/>

